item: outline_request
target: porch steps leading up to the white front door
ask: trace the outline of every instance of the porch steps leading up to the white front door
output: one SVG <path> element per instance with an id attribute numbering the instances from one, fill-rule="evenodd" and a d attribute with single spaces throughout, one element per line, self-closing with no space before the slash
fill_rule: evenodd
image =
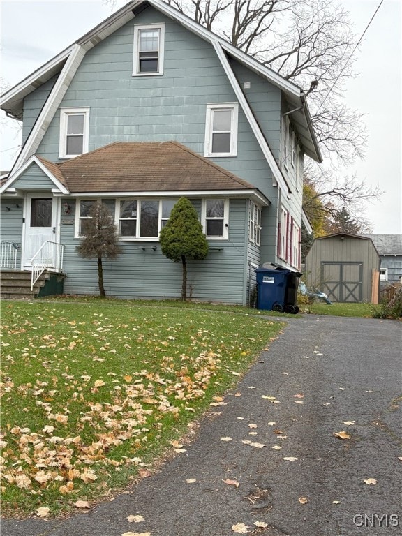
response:
<path id="1" fill-rule="evenodd" d="M 0 298 L 1 299 L 34 299 L 39 295 L 40 289 L 50 279 L 50 274 L 44 272 L 31 291 L 31 272 L 21 270 L 0 271 Z"/>

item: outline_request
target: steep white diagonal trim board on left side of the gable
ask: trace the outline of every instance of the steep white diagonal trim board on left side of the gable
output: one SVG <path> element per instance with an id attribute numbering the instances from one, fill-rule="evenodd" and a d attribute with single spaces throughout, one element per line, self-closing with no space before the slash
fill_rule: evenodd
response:
<path id="1" fill-rule="evenodd" d="M 43 106 L 34 128 L 32 128 L 27 141 L 22 147 L 20 154 L 18 155 L 17 160 L 13 166 L 13 169 L 18 168 L 25 161 L 27 161 L 30 156 L 35 154 L 36 149 L 38 149 L 40 142 L 45 135 L 47 128 L 52 121 L 54 114 L 57 112 L 57 109 L 63 100 L 64 95 L 70 85 L 77 68 L 80 66 L 82 58 L 85 55 L 85 50 L 80 45 L 74 45 L 70 55 L 64 65 L 57 82 L 54 84 L 52 91 L 50 92 L 49 97 L 45 105 Z"/>

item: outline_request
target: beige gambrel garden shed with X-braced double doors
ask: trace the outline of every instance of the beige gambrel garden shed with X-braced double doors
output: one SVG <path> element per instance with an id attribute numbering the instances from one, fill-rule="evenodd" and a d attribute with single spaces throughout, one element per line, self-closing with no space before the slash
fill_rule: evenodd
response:
<path id="1" fill-rule="evenodd" d="M 340 232 L 315 239 L 305 273 L 308 288 L 331 301 L 378 303 L 380 255 L 370 238 Z"/>

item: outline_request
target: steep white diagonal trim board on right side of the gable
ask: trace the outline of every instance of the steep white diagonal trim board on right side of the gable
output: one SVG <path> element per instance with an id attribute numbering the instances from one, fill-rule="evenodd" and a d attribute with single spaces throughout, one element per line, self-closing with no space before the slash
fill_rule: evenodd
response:
<path id="1" fill-rule="evenodd" d="M 251 107 L 248 104 L 248 101 L 246 97 L 244 96 L 243 91 L 241 91 L 239 82 L 237 82 L 237 78 L 234 76 L 234 73 L 232 69 L 230 68 L 228 58 L 225 56 L 225 52 L 223 52 L 221 44 L 218 43 L 217 40 L 214 40 L 212 44 L 214 45 L 216 54 L 218 54 L 218 59 L 221 61 L 221 64 L 225 70 L 225 73 L 228 76 L 228 79 L 229 79 L 230 84 L 232 85 L 233 91 L 239 100 L 241 108 L 243 109 L 243 112 L 246 115 L 248 123 L 250 124 L 253 130 L 253 133 L 255 137 L 257 138 L 257 141 L 258 141 L 258 144 L 260 145 L 262 153 L 264 154 L 265 158 L 267 159 L 267 162 L 269 163 L 269 167 L 271 168 L 275 181 L 281 187 L 282 191 L 292 193 L 292 191 L 290 190 L 290 187 L 288 186 L 288 184 L 286 183 L 283 177 L 281 170 L 279 169 L 278 163 L 276 162 L 274 155 L 272 154 L 271 149 L 269 148 L 269 145 L 267 144 L 267 140 L 265 140 L 265 137 L 262 134 L 260 126 L 255 120 Z"/>

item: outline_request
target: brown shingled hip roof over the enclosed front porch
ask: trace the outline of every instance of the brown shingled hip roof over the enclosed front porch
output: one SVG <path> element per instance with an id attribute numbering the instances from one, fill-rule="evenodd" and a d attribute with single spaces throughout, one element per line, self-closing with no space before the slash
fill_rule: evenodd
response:
<path id="1" fill-rule="evenodd" d="M 177 142 L 115 142 L 64 163 L 37 158 L 70 193 L 255 191 Z"/>

